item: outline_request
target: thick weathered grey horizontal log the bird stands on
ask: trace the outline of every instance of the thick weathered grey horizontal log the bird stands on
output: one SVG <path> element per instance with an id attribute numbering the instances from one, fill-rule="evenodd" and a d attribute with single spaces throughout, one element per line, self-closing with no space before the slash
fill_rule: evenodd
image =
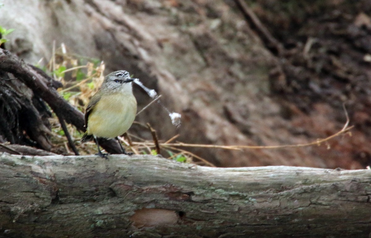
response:
<path id="1" fill-rule="evenodd" d="M 0 155 L 5 237 L 369 237 L 371 171 Z"/>

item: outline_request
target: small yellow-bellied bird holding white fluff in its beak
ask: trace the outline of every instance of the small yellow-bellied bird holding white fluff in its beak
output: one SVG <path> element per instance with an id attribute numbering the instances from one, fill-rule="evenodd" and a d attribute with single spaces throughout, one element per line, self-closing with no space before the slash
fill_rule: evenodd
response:
<path id="1" fill-rule="evenodd" d="M 116 138 L 124 134 L 133 124 L 137 114 L 137 100 L 134 97 L 132 81 L 128 71 L 121 70 L 108 74 L 101 88 L 90 99 L 85 111 L 86 132 L 81 141 L 94 138 L 98 154 L 106 157 L 99 149 L 97 137 Z M 118 140 L 119 141 L 119 140 Z M 125 149 L 119 144 L 124 154 Z"/>

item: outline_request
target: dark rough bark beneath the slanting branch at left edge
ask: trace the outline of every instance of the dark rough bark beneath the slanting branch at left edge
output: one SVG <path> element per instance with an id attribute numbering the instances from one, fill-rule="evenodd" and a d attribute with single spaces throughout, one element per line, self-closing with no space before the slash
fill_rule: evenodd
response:
<path id="1" fill-rule="evenodd" d="M 0 49 L 3 55 L 3 49 Z M 3 70 L 0 59 L 0 142 L 28 144 L 50 150 L 51 112 L 22 80 Z"/>

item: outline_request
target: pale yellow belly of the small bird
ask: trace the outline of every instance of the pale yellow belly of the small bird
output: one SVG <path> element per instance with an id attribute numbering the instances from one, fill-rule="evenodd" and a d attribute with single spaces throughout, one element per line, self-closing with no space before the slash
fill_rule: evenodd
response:
<path id="1" fill-rule="evenodd" d="M 134 95 L 111 94 L 103 97 L 88 118 L 88 135 L 114 138 L 124 134 L 133 124 L 137 114 Z"/>

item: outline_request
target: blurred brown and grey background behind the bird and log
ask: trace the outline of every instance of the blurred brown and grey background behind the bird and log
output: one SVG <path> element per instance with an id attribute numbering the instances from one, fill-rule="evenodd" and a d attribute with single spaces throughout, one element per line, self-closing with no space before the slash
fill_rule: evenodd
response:
<path id="1" fill-rule="evenodd" d="M 370 0 L 0 3 L 0 26 L 14 29 L 3 47 L 24 61 L 48 67 L 63 43 L 73 59 L 104 61 L 104 75 L 125 69 L 154 88 L 182 114 L 180 128 L 157 104 L 137 116 L 162 141 L 179 134 L 176 141 L 196 144 L 308 143 L 341 130 L 343 104 L 355 126 L 351 136 L 309 147 L 187 147 L 215 166 L 371 163 Z M 139 109 L 151 102 L 139 87 L 134 93 Z M 129 133 L 152 138 L 138 125 Z"/>

